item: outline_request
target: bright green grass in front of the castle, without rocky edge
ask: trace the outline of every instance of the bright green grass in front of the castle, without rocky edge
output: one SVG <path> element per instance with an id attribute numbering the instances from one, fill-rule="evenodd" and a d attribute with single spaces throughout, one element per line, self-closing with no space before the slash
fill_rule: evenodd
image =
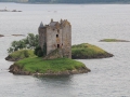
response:
<path id="1" fill-rule="evenodd" d="M 43 60 L 42 58 L 34 57 L 18 60 L 14 63 L 14 65 L 18 65 L 22 68 L 22 70 L 29 71 L 31 73 L 46 73 L 48 71 L 58 72 L 65 70 L 86 68 L 86 66 L 82 63 L 69 58 Z"/>

